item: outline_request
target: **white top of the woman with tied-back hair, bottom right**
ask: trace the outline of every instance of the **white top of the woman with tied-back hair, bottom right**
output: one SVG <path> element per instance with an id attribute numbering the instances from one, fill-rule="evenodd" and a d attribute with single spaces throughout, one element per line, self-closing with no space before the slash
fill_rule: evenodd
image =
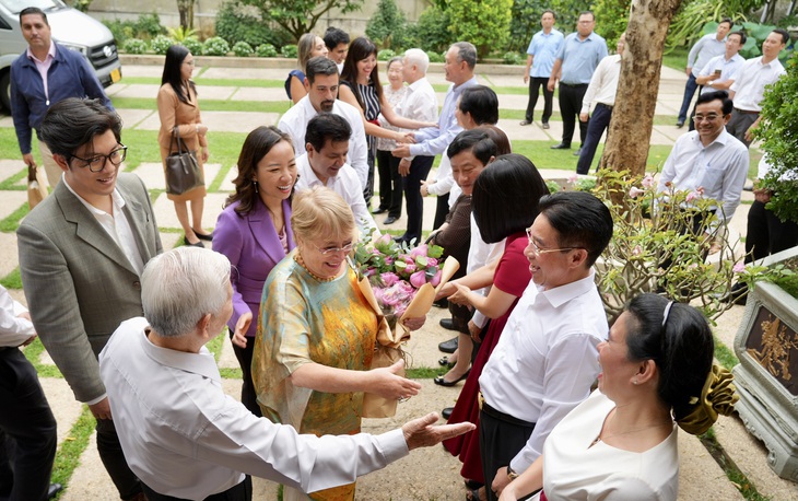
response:
<path id="1" fill-rule="evenodd" d="M 547 499 L 676 501 L 679 492 L 676 423 L 662 442 L 642 453 L 623 451 L 601 441 L 591 446 L 614 408 L 615 404 L 597 389 L 554 427 L 543 447 Z"/>

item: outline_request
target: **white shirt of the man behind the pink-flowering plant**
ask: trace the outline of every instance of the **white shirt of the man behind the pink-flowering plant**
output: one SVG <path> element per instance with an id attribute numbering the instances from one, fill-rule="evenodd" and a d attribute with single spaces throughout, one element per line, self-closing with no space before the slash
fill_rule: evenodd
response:
<path id="1" fill-rule="evenodd" d="M 695 191 L 704 188 L 704 197 L 721 202 L 718 221 L 730 220 L 740 205 L 740 194 L 748 175 L 749 155 L 746 144 L 723 129 L 706 148 L 699 131 L 693 130 L 676 140 L 659 176 L 658 191 L 666 191 L 671 182 L 676 189 Z"/>

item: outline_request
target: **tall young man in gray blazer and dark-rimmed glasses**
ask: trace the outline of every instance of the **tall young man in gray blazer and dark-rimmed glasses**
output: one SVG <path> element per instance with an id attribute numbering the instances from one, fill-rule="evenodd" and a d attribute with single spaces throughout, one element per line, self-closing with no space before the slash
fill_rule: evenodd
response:
<path id="1" fill-rule="evenodd" d="M 125 461 L 97 354 L 122 321 L 143 314 L 140 276 L 162 252 L 150 196 L 140 178 L 119 172 L 121 120 L 101 102 L 52 105 L 40 136 L 64 183 L 16 231 L 33 324 L 96 418 L 97 451 L 119 496 L 145 499 Z"/>

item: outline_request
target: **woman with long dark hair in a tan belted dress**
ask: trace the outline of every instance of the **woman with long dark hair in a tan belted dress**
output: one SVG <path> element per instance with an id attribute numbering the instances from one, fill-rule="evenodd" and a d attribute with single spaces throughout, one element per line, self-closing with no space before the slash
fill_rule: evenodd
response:
<path id="1" fill-rule="evenodd" d="M 197 88 L 191 81 L 193 71 L 193 56 L 181 45 L 173 45 L 166 51 L 164 73 L 161 78 L 161 89 L 157 93 L 157 113 L 161 118 L 161 130 L 157 142 L 161 145 L 161 159 L 166 170 L 166 156 L 171 153 L 172 132 L 177 128 L 189 151 L 197 153 L 197 161 L 202 168 L 208 160 L 208 127 L 202 124 Z M 176 145 L 174 147 L 176 150 Z M 206 187 L 199 186 L 181 195 L 167 194 L 166 197 L 175 202 L 175 212 L 186 232 L 184 243 L 195 247 L 204 247 L 201 241 L 210 241 L 212 233 L 202 229 L 202 210 L 206 198 Z M 188 203 L 191 202 L 191 224 L 188 221 Z"/>

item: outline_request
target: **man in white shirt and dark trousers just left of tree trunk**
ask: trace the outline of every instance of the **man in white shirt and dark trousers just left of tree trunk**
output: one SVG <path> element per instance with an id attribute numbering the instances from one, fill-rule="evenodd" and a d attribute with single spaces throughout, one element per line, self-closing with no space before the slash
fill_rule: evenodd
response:
<path id="1" fill-rule="evenodd" d="M 618 79 L 621 75 L 621 56 L 626 46 L 626 33 L 621 33 L 615 45 L 617 54 L 601 59 L 599 66 L 590 78 L 590 84 L 585 91 L 582 100 L 579 120 L 588 121 L 585 143 L 579 150 L 579 161 L 576 163 L 576 174 L 590 172 L 592 158 L 596 155 L 596 148 L 601 140 L 601 135 L 610 126 L 612 108 L 615 106 L 615 92 L 618 91 Z M 592 117 L 589 117 L 590 104 L 596 103 Z"/>

